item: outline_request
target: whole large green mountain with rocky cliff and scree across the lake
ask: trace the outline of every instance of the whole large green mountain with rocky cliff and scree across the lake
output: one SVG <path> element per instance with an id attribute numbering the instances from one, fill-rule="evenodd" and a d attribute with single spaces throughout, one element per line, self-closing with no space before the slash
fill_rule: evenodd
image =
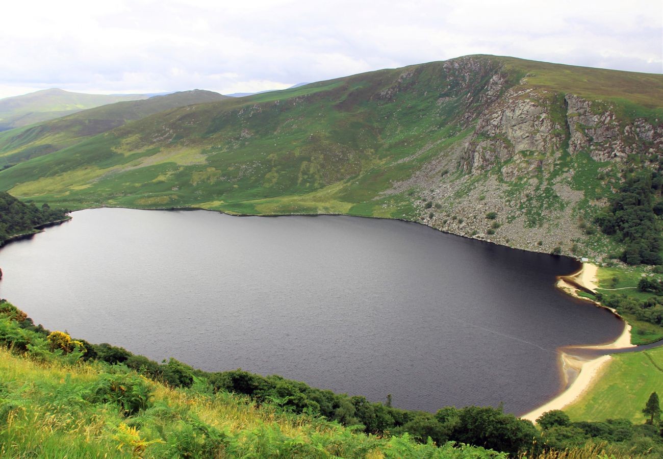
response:
<path id="1" fill-rule="evenodd" d="M 599 257 L 619 244 L 594 218 L 623 173 L 660 166 L 662 119 L 661 75 L 465 56 L 156 113 L 7 168 L 0 188 L 69 208 L 402 218 Z"/>

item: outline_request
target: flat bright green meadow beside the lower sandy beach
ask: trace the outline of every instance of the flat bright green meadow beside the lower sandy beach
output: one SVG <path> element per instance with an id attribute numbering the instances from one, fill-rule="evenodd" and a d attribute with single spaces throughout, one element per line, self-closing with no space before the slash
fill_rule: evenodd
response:
<path id="1" fill-rule="evenodd" d="M 564 411 L 573 421 L 626 418 L 644 423 L 650 394 L 663 392 L 663 348 L 616 354 L 589 390 Z"/>

